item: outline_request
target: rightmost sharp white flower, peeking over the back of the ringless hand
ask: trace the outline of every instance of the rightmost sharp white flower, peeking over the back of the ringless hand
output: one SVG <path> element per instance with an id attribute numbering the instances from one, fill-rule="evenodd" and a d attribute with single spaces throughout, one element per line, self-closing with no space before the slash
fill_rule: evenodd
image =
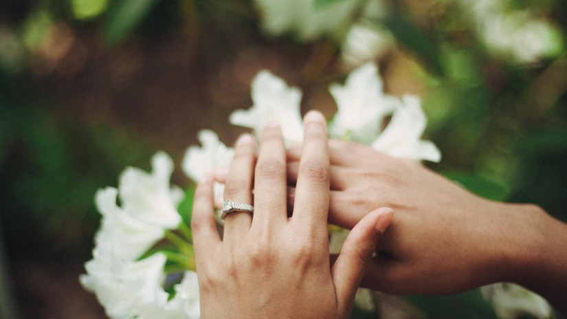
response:
<path id="1" fill-rule="evenodd" d="M 372 147 L 394 157 L 416 161 L 439 162 L 441 152 L 431 141 L 421 140 L 427 118 L 419 98 L 405 96 L 403 104 L 394 111 L 386 129 L 372 143 Z"/>

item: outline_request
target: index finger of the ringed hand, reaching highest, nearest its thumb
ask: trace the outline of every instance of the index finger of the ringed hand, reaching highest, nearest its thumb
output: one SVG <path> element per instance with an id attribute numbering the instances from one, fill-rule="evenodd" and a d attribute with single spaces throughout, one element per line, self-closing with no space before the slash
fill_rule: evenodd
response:
<path id="1" fill-rule="evenodd" d="M 329 151 L 325 118 L 309 111 L 304 118 L 293 219 L 310 229 L 326 228 L 329 210 Z"/>

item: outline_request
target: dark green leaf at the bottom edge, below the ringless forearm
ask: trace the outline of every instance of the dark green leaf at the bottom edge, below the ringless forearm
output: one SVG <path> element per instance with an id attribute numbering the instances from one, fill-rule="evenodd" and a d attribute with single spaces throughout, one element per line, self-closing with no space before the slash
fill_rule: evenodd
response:
<path id="1" fill-rule="evenodd" d="M 496 319 L 493 307 L 474 289 L 448 296 L 407 296 L 410 303 L 427 314 L 427 318 Z"/>

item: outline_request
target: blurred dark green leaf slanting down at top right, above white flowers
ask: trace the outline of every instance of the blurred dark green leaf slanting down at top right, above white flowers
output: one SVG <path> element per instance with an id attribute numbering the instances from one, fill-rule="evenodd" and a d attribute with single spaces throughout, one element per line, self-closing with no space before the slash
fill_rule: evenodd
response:
<path id="1" fill-rule="evenodd" d="M 434 45 L 434 41 L 429 39 L 411 21 L 399 12 L 390 12 L 380 22 L 386 25 L 401 45 L 420 56 L 432 72 L 445 75 L 441 63 L 441 52 Z"/>

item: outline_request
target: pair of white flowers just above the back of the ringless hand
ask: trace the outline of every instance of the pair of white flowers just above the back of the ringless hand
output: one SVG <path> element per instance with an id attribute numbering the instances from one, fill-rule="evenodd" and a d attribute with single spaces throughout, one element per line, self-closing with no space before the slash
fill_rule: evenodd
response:
<path id="1" fill-rule="evenodd" d="M 427 118 L 419 98 L 405 96 L 400 100 L 384 94 L 373 63 L 355 69 L 344 85 L 333 84 L 329 91 L 338 107 L 329 128 L 331 136 L 370 144 L 375 150 L 395 157 L 441 160 L 435 144 L 421 140 Z M 392 118 L 382 130 L 388 115 Z"/>

